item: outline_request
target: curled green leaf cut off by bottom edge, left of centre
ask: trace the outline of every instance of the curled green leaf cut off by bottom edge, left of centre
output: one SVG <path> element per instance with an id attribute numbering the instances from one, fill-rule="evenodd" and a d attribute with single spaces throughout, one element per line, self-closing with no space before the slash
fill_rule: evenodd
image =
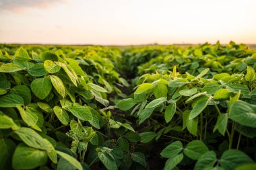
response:
<path id="1" fill-rule="evenodd" d="M 110 153 L 99 152 L 98 158 L 104 164 L 106 169 L 108 169 L 108 170 L 117 170 L 118 169 L 117 163 L 115 162 L 113 155 L 111 155 Z"/>

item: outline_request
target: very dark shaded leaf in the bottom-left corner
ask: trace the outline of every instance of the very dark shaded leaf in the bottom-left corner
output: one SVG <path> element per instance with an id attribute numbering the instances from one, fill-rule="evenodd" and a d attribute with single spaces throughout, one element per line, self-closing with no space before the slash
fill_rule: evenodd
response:
<path id="1" fill-rule="evenodd" d="M 9 138 L 0 138 L 0 169 L 11 169 L 15 143 Z"/>

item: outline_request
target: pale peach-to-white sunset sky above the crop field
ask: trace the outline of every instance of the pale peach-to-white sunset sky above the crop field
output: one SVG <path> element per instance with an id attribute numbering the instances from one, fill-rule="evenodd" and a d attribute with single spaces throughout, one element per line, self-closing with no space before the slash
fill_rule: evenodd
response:
<path id="1" fill-rule="evenodd" d="M 0 43 L 256 44 L 255 0 L 0 0 Z"/>

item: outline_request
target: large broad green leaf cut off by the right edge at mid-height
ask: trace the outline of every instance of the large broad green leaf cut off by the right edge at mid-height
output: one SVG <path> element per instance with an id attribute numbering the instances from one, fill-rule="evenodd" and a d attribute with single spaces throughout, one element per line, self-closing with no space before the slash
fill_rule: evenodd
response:
<path id="1" fill-rule="evenodd" d="M 238 124 L 256 128 L 256 105 L 234 101 L 230 107 L 229 118 Z"/>

